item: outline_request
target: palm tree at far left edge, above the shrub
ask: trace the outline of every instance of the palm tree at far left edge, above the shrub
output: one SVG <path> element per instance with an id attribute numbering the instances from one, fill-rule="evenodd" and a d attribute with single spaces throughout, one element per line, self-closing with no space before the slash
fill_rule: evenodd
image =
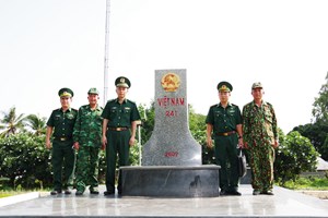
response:
<path id="1" fill-rule="evenodd" d="M 8 113 L 2 111 L 2 114 L 3 119 L 1 120 L 0 130 L 4 131 L 0 134 L 1 136 L 9 136 L 20 131 L 24 131 L 24 113 L 17 116 L 16 108 L 12 107 Z"/>

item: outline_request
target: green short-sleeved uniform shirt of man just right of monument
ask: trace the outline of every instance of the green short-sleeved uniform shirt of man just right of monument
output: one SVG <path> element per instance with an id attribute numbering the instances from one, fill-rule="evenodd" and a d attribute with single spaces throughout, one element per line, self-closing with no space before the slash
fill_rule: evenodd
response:
<path id="1" fill-rule="evenodd" d="M 226 108 L 221 102 L 210 107 L 206 123 L 213 125 L 214 133 L 225 133 L 236 130 L 237 124 L 242 124 L 239 107 L 227 104 Z"/>

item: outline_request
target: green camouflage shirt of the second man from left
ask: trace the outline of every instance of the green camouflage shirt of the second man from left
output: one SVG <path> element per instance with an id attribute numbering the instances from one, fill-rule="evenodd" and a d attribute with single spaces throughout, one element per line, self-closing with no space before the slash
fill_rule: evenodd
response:
<path id="1" fill-rule="evenodd" d="M 103 108 L 97 106 L 94 110 L 90 105 L 81 106 L 74 125 L 73 140 L 83 146 L 101 146 Z"/>

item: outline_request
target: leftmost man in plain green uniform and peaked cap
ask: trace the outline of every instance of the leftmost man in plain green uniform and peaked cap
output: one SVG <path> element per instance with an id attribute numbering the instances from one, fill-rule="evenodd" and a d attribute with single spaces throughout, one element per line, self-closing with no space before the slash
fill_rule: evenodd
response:
<path id="1" fill-rule="evenodd" d="M 50 192 L 51 195 L 59 194 L 62 190 L 65 190 L 65 194 L 71 194 L 75 167 L 75 152 L 72 146 L 78 110 L 70 107 L 74 94 L 70 88 L 61 88 L 58 95 L 61 108 L 51 112 L 46 133 L 46 147 L 50 149 L 50 136 L 54 131 L 51 155 L 54 190 Z M 63 178 L 61 177 L 62 170 Z"/>

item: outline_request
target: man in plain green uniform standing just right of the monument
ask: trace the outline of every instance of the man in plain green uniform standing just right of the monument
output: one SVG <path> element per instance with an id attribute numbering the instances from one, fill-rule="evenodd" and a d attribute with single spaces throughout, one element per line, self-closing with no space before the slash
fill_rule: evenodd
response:
<path id="1" fill-rule="evenodd" d="M 233 86 L 227 82 L 218 84 L 220 102 L 210 107 L 207 123 L 207 145 L 213 147 L 220 169 L 220 195 L 242 195 L 238 192 L 237 146 L 243 144 L 242 114 L 238 106 L 229 101 Z"/>

